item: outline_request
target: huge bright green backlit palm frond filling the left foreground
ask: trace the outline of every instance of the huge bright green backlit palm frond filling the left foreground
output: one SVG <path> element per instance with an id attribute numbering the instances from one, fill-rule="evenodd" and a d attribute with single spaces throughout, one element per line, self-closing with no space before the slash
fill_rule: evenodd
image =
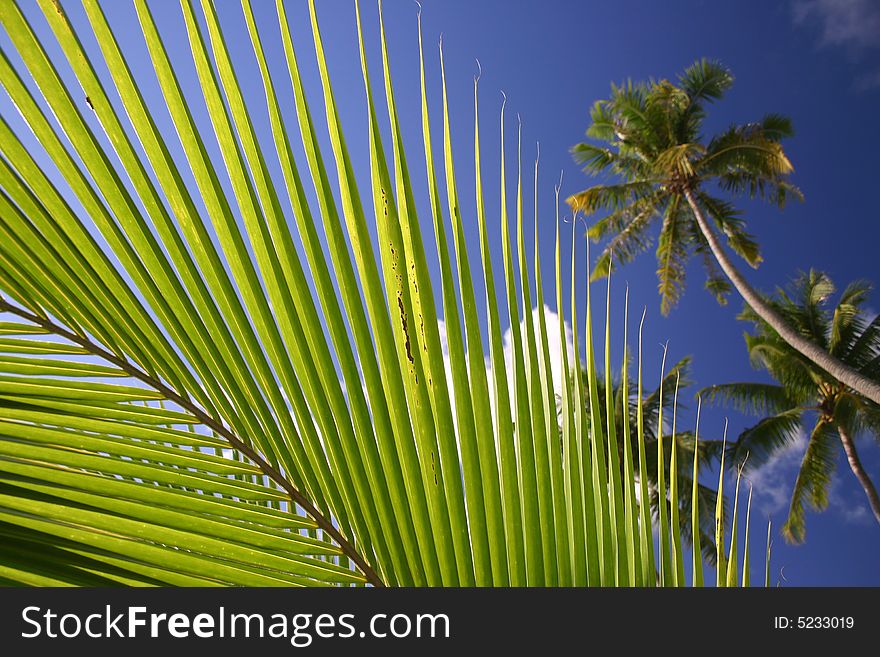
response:
<path id="1" fill-rule="evenodd" d="M 435 158 L 421 48 L 427 176 L 418 185 L 410 177 L 381 11 L 391 138 L 356 5 L 367 129 L 348 135 L 368 140 L 370 154 L 369 170 L 356 172 L 313 0 L 305 48 L 320 90 L 303 83 L 303 46 L 283 0 L 277 23 L 259 26 L 251 0 L 241 2 L 237 25 L 248 36 L 237 36 L 249 38 L 257 71 L 233 63 L 212 0 L 181 2 L 192 62 L 169 58 L 149 3 L 135 0 L 161 91 L 152 104 L 134 73 L 146 76 L 148 65 L 128 58 L 140 50 L 126 56 L 136 39 L 114 32 L 107 3 L 82 4 L 84 18 L 73 20 L 60 3 L 38 0 L 49 35 L 17 3 L 0 2 L 31 78 L 4 50 L 0 81 L 20 116 L 0 117 L 0 583 L 653 585 L 654 551 L 640 550 L 652 528 L 633 515 L 632 462 L 609 489 L 593 458 L 604 443 L 583 412 L 596 396 L 590 322 L 586 335 L 573 334 L 591 364 L 586 380 L 576 363 L 562 370 L 571 392 L 561 449 L 548 334 L 565 334 L 565 313 L 558 326 L 531 319 L 530 271 L 538 307 L 543 286 L 537 245 L 533 259 L 524 246 L 521 169 L 516 248 L 501 199 L 505 294 L 496 293 L 476 84 L 477 203 L 464 209 L 445 77 Z M 267 38 L 278 29 L 280 41 Z M 280 44 L 285 83 L 270 74 L 269 43 Z M 198 87 L 177 77 L 190 64 Z M 241 74 L 259 76 L 265 97 L 246 98 Z M 159 128 L 160 115 L 173 131 Z M 263 141 L 258 117 L 269 120 Z M 14 127 L 20 120 L 32 135 Z M 222 158 L 210 157 L 217 148 Z M 445 169 L 442 190 L 435 165 Z M 430 199 L 433 244 L 423 239 L 417 189 Z M 480 231 L 480 282 L 465 213 Z M 558 308 L 581 316 L 575 250 L 563 277 L 558 239 L 556 272 Z M 510 366 L 506 324 L 515 329 Z M 643 447 L 644 432 L 633 433 Z M 629 522 L 616 524 L 617 514 Z M 661 584 L 686 583 L 675 529 L 661 522 L 678 548 Z M 723 583 L 739 583 L 735 570 Z"/>

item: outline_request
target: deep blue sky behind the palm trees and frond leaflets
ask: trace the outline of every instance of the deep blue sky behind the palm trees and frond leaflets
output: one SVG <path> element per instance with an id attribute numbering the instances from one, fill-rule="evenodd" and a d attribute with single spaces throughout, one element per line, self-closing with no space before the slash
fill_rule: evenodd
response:
<path id="1" fill-rule="evenodd" d="M 28 16 L 34 18 L 39 31 L 47 32 L 35 3 L 21 4 Z M 78 3 L 68 0 L 63 4 L 75 25 L 86 24 Z M 158 85 L 134 11 L 128 3 L 104 4 L 135 75 L 142 81 L 142 90 L 156 108 L 155 119 L 172 138 L 173 128 L 167 113 L 161 110 Z M 226 37 L 234 44 L 235 63 L 245 92 L 254 107 L 259 108 L 254 115 L 254 127 L 264 143 L 271 143 L 262 109 L 263 92 L 238 2 L 218 0 L 217 4 Z M 276 80 L 284 80 L 280 39 L 273 25 L 274 3 L 254 4 L 258 23 L 266 26 L 270 68 Z M 553 296 L 552 269 L 549 268 L 555 233 L 553 185 L 562 171 L 563 195 L 591 183 L 574 165 L 568 152 L 582 138 L 590 104 L 608 94 L 611 81 L 619 82 L 628 77 L 673 77 L 700 57 L 721 60 L 737 78 L 728 97 L 713 108 L 707 125 L 709 131 L 722 129 L 732 122 L 756 119 L 765 112 L 781 112 L 792 117 L 797 132 L 788 144 L 788 152 L 796 168 L 794 182 L 803 190 L 806 202 L 792 205 L 783 212 L 743 203 L 749 226 L 758 237 L 765 258 L 760 270 L 747 272 L 750 280 L 769 290 L 785 283 L 799 269 L 809 267 L 827 271 L 841 287 L 857 278 L 880 279 L 880 267 L 872 247 L 880 236 L 876 204 L 872 202 L 878 166 L 871 156 L 880 149 L 880 131 L 874 127 L 880 111 L 880 7 L 876 2 L 425 0 L 422 4 L 435 149 L 439 148 L 442 136 L 437 130 L 440 106 L 436 49 L 442 34 L 462 207 L 473 208 L 473 76 L 477 72 L 477 59 L 482 68 L 483 175 L 490 222 L 493 218 L 497 221 L 498 112 L 502 90 L 508 97 L 508 137 L 515 135 L 516 114 L 522 117 L 524 169 L 529 176 L 535 144 L 540 141 L 539 232 L 546 268 L 544 279 L 548 286 L 546 297 Z M 313 57 L 308 54 L 311 37 L 307 10 L 304 2 L 289 5 L 305 84 L 315 104 L 313 111 L 317 112 L 319 87 Z M 366 118 L 353 2 L 320 0 L 318 5 L 348 146 L 356 170 L 366 172 L 369 166 Z M 371 1 L 362 5 L 371 72 L 376 77 L 381 73 L 376 9 Z M 180 64 L 177 72 L 184 88 L 196 99 L 192 110 L 197 120 L 208 125 L 204 106 L 197 100 L 198 82 L 178 5 L 171 0 L 153 1 L 151 7 L 172 51 L 172 61 L 176 66 Z M 384 4 L 396 99 L 404 140 L 409 144 L 409 164 L 413 178 L 423 181 L 416 11 L 416 5 L 410 0 L 386 0 Z M 96 52 L 87 30 L 83 31 L 83 40 L 90 52 Z M 0 44 L 7 50 L 5 34 L 0 36 Z M 63 72 L 67 74 L 66 70 Z M 285 95 L 282 102 L 286 102 L 285 118 L 294 126 L 289 96 Z M 13 110 L 5 95 L 0 99 L 0 111 L 15 125 Z M 21 129 L 20 124 L 17 127 Z M 509 141 L 506 163 L 509 176 L 515 173 L 513 146 Z M 208 147 L 219 158 L 212 140 L 208 140 Z M 179 151 L 175 154 L 180 155 Z M 299 157 L 301 153 L 297 151 L 296 155 Z M 271 163 L 271 166 L 276 167 L 273 174 L 282 187 L 277 165 Z M 366 189 L 368 177 L 361 180 Z M 525 187 L 529 208 L 532 203 L 530 178 Z M 424 187 L 421 192 L 420 216 L 430 235 Z M 468 214 L 466 210 L 464 219 L 468 237 L 474 240 L 473 211 Z M 498 244 L 497 239 L 496 230 L 493 244 Z M 584 248 L 582 240 L 577 247 Z M 475 248 L 472 255 L 474 267 L 478 269 Z M 500 271 L 500 249 L 495 255 L 496 271 Z M 643 306 L 647 307 L 646 376 L 650 377 L 652 372 L 655 376 L 659 374 L 660 345 L 668 341 L 672 361 L 684 355 L 694 358 L 692 376 L 696 385 L 692 390 L 716 382 L 764 380 L 763 375 L 748 364 L 742 340 L 745 326 L 735 320 L 740 309 L 738 300 L 732 297 L 727 307 L 719 307 L 702 290 L 703 274 L 694 263 L 683 299 L 673 313 L 664 318 L 659 312 L 655 269 L 653 255 L 647 253 L 620 270 L 614 283 L 618 294 L 613 312 L 618 331 L 624 281 L 630 289 L 631 309 L 637 309 L 631 311 L 631 316 Z M 602 288 L 603 285 L 599 285 L 597 291 Z M 880 296 L 872 303 L 875 310 L 880 308 Z M 632 324 L 630 330 L 634 328 Z M 689 403 L 680 419 L 683 426 L 692 424 L 694 410 L 694 404 Z M 703 416 L 703 435 L 720 437 L 725 417 L 730 418 L 731 436 L 736 436 L 752 421 L 733 412 L 707 409 Z M 869 473 L 880 477 L 877 444 L 861 437 L 859 446 Z M 765 536 L 764 518 L 771 515 L 777 528 L 784 521 L 787 495 L 799 457 L 797 450 L 798 446 L 794 446 L 773 467 L 755 477 L 753 519 L 756 525 L 752 547 L 757 553 L 761 552 Z M 781 578 L 782 572 L 788 585 L 880 584 L 880 564 L 876 557 L 880 553 L 880 527 L 873 521 L 864 495 L 842 458 L 838 475 L 832 489 L 831 508 L 808 517 L 805 545 L 786 545 L 774 532 L 774 581 Z M 757 523 L 758 519 L 762 522 Z"/>

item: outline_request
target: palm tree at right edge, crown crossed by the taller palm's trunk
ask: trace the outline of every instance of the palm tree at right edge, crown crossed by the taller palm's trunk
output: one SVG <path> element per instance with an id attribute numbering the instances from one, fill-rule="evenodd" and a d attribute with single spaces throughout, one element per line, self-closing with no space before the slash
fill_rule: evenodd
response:
<path id="1" fill-rule="evenodd" d="M 880 317 L 871 320 L 862 309 L 870 289 L 862 281 L 851 283 L 831 310 L 828 300 L 834 285 L 826 274 L 811 270 L 797 279 L 791 294 L 779 290 L 769 303 L 807 339 L 822 345 L 852 369 L 880 380 Z M 880 440 L 880 406 L 792 349 L 750 308 L 740 317 L 755 326 L 756 332 L 746 335 L 752 363 L 765 369 L 777 383 L 730 383 L 705 391 L 708 399 L 766 415 L 731 446 L 733 461 L 747 460 L 747 468 L 758 467 L 812 425 L 792 491 L 788 521 L 783 529 L 785 536 L 802 542 L 805 506 L 817 510 L 827 507 L 838 442 L 880 522 L 880 498 L 855 444 L 855 438 L 865 433 Z"/>

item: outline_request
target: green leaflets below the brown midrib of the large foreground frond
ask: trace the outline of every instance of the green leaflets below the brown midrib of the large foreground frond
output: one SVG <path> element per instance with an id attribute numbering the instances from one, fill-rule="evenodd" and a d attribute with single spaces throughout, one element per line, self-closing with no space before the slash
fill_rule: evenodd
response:
<path id="1" fill-rule="evenodd" d="M 79 555 L 109 566 L 116 583 L 364 581 L 339 565 L 342 550 L 317 537 L 314 520 L 291 513 L 289 497 L 267 479 L 263 461 L 247 457 L 249 448 L 236 450 L 192 413 L 156 406 L 176 405 L 156 389 L 93 380 L 106 373 L 83 372 L 78 366 L 90 364 L 76 357 L 60 361 L 71 370 L 51 374 L 85 380 L 3 375 L 7 549 L 26 554 L 39 543 Z M 122 370 L 113 376 L 131 378 Z M 81 583 L 79 570 L 56 578 Z"/>

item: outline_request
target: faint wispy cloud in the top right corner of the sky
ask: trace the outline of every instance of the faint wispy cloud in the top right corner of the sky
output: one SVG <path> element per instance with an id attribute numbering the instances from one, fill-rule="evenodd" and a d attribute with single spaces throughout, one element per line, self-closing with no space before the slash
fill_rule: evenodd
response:
<path id="1" fill-rule="evenodd" d="M 794 0 L 794 22 L 818 28 L 819 44 L 844 48 L 861 62 L 855 86 L 880 87 L 880 3 L 876 0 Z"/>

